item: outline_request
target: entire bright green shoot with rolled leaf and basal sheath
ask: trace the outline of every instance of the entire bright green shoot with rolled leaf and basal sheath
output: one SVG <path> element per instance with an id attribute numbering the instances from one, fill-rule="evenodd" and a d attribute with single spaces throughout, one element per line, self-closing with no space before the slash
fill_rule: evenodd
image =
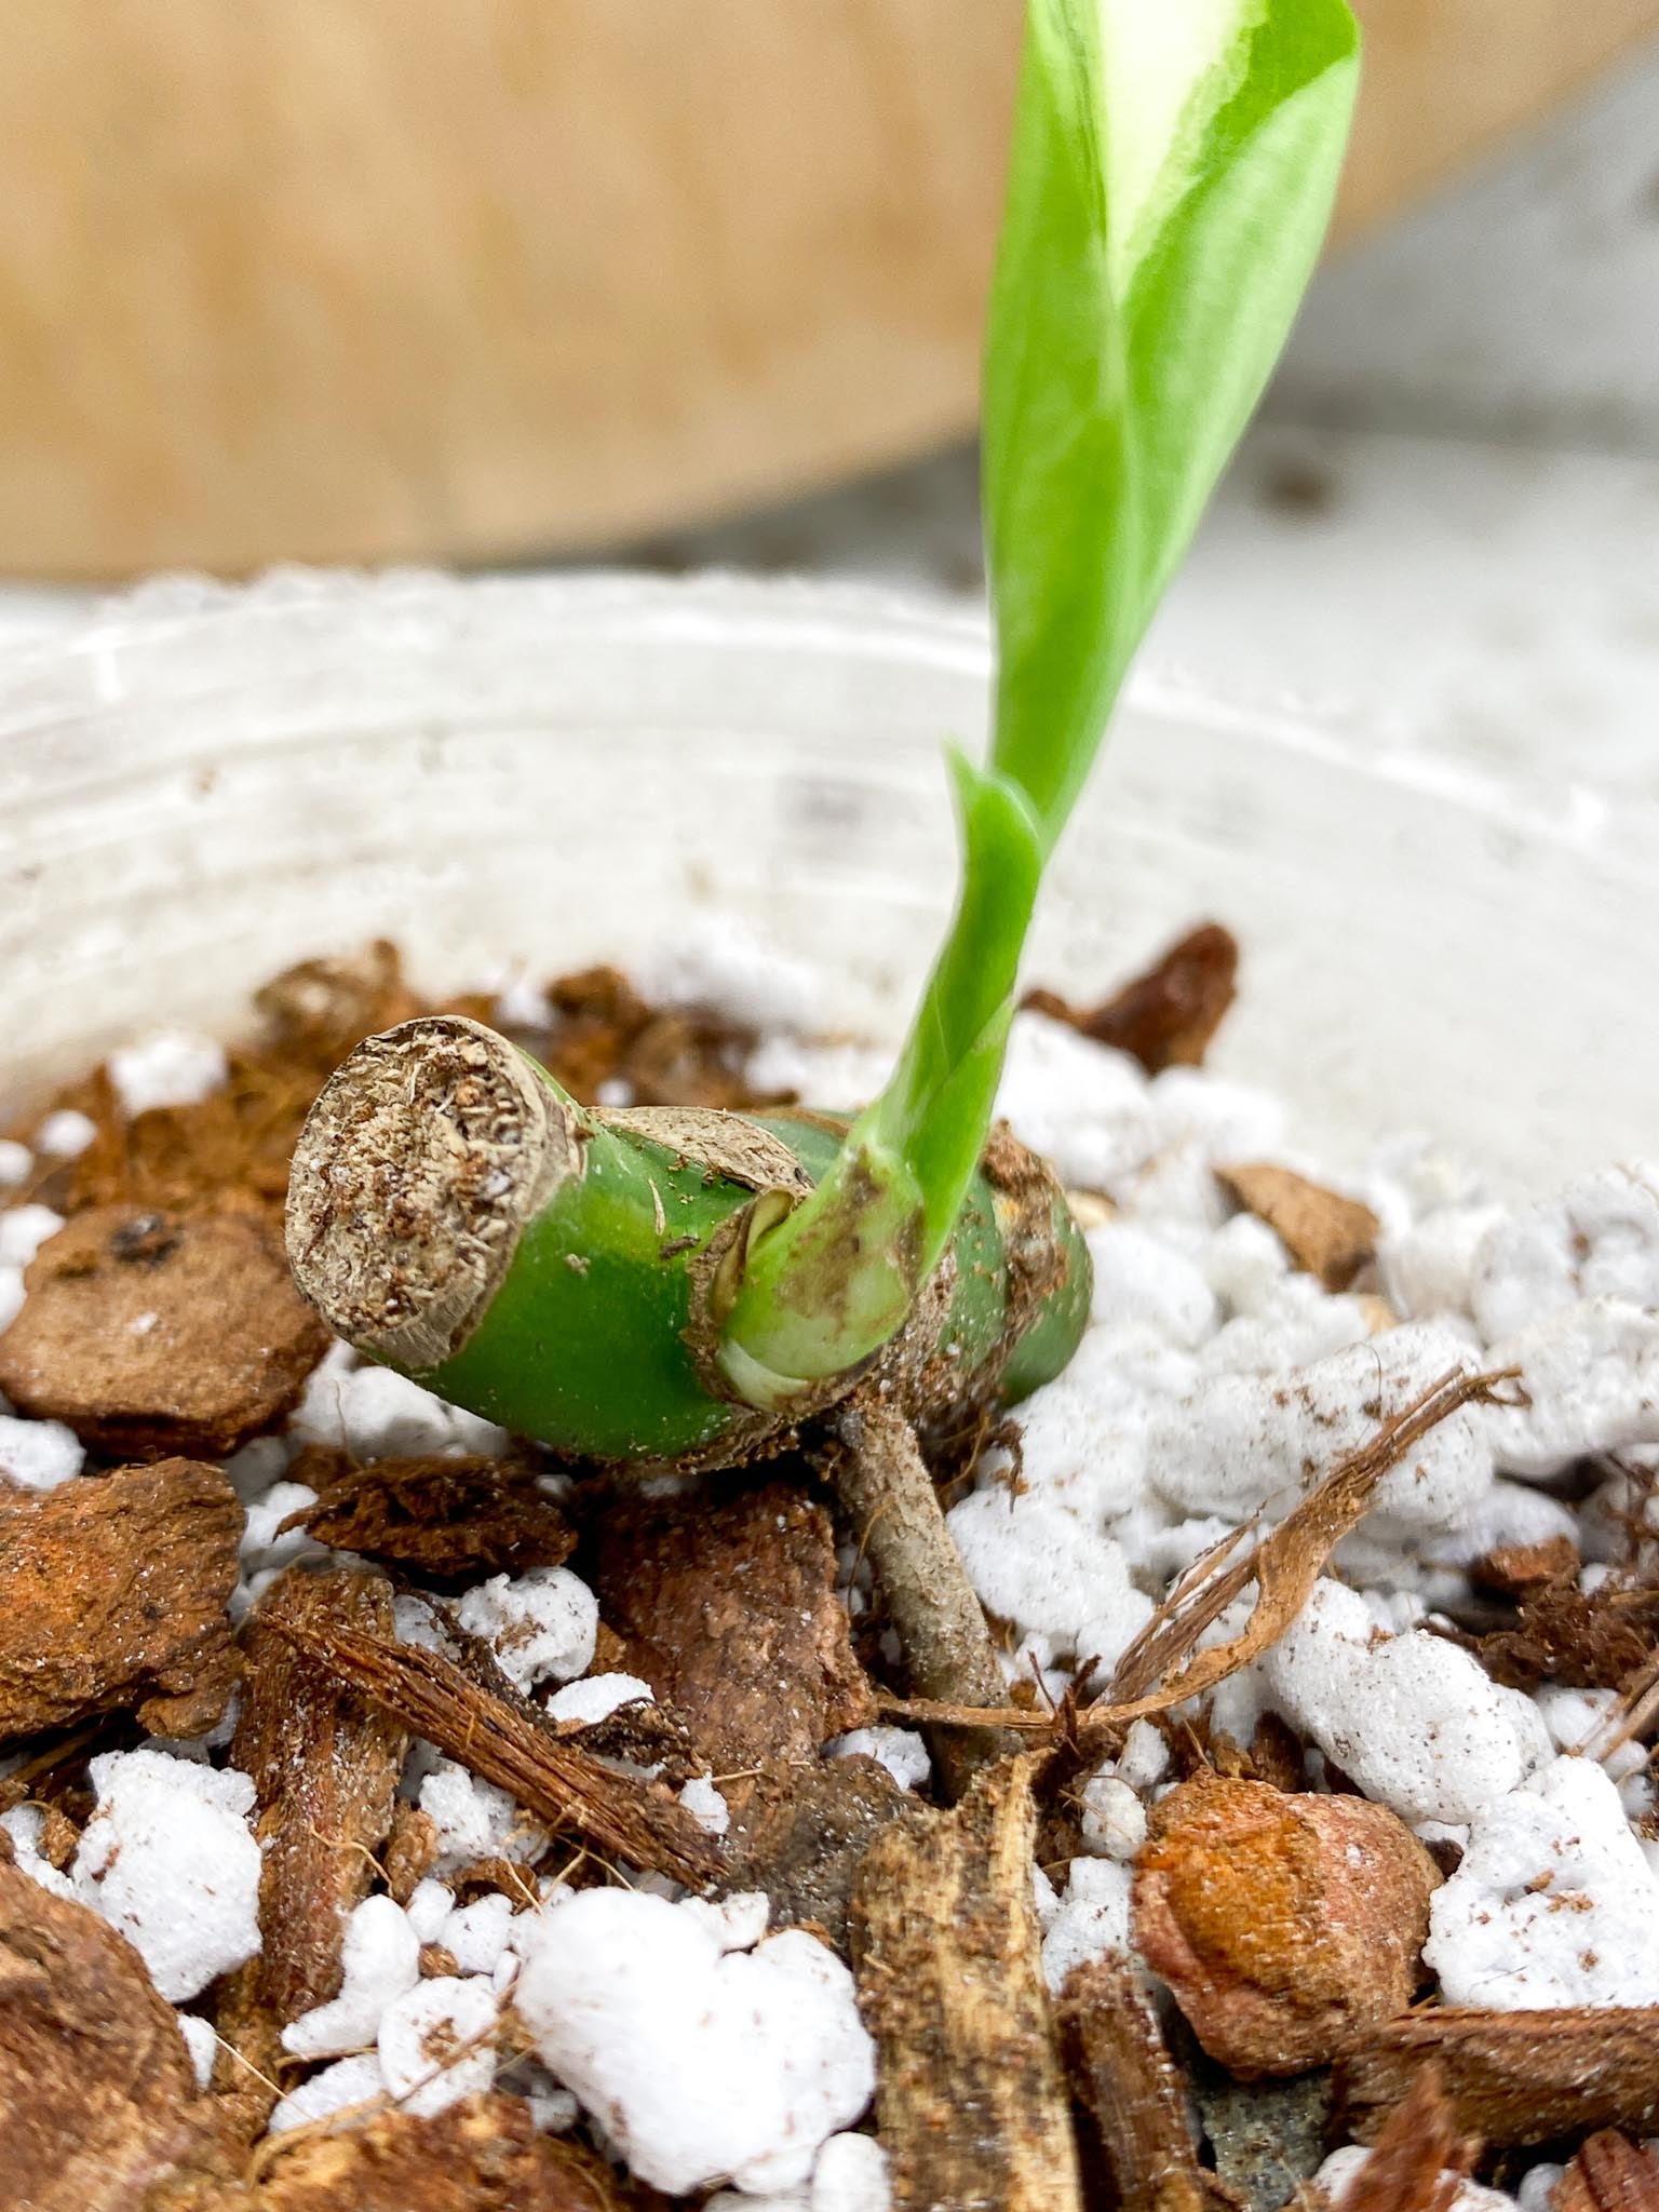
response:
<path id="1" fill-rule="evenodd" d="M 902 1325 L 991 1124 L 1048 852 L 1130 655 L 1279 358 L 1358 71 L 1343 0 L 1029 0 L 984 352 L 991 761 L 953 754 L 962 896 L 885 1093 L 754 1241 L 754 1402 Z"/>

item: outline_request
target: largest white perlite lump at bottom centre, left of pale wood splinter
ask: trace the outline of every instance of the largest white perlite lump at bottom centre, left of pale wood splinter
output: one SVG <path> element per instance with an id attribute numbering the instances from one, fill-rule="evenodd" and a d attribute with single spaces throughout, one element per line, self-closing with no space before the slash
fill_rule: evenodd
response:
<path id="1" fill-rule="evenodd" d="M 703 1918 L 639 1891 L 549 1911 L 513 2004 L 633 2172 L 670 2194 L 799 2188 L 874 2088 L 852 1975 L 814 1936 L 723 1951 Z"/>

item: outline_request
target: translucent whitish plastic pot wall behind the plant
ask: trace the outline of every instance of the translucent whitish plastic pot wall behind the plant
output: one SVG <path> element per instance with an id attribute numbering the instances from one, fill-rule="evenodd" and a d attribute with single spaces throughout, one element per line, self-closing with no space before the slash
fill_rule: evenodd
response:
<path id="1" fill-rule="evenodd" d="M 730 577 L 159 584 L 0 657 L 0 1113 L 310 953 L 460 987 L 628 962 L 695 907 L 902 1022 L 951 889 L 969 613 Z M 1029 958 L 1091 993 L 1203 916 L 1217 1064 L 1340 1159 L 1429 1128 L 1522 1186 L 1652 1148 L 1659 821 L 1380 759 L 1141 677 Z"/>

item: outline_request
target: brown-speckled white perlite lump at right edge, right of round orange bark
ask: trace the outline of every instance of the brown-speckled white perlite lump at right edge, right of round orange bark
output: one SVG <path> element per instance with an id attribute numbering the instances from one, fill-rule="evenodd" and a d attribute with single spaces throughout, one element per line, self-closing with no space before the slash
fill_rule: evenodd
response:
<path id="1" fill-rule="evenodd" d="M 1447 2004 L 1659 2004 L 1659 1876 L 1601 1767 L 1557 1759 L 1475 1816 L 1422 1955 Z"/>

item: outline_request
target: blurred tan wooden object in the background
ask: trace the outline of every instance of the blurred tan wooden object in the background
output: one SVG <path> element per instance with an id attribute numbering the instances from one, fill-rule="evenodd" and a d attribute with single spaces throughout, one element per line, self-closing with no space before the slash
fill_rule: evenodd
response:
<path id="1" fill-rule="evenodd" d="M 1659 31 L 1360 13 L 1345 234 Z M 9 0 L 0 571 L 535 555 L 971 429 L 1018 20 Z"/>

